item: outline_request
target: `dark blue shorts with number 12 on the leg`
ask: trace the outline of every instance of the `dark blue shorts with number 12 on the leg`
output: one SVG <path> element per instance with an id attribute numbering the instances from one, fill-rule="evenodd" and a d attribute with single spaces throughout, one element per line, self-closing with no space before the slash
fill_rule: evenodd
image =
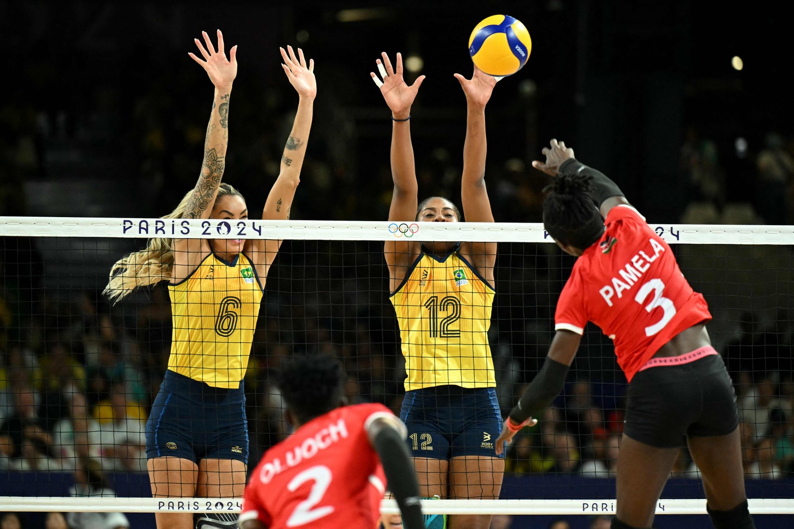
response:
<path id="1" fill-rule="evenodd" d="M 460 455 L 491 458 L 502 432 L 502 412 L 494 388 L 440 385 L 405 394 L 399 418 L 408 427 L 414 458 L 449 459 Z"/>

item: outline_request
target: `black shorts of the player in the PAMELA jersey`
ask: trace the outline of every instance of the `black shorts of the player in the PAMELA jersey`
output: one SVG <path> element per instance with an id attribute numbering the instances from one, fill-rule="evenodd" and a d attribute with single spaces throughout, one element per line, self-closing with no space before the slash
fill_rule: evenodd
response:
<path id="1" fill-rule="evenodd" d="M 737 426 L 736 393 L 719 355 L 652 367 L 631 379 L 623 433 L 640 443 L 676 448 L 684 435 L 728 435 Z"/>

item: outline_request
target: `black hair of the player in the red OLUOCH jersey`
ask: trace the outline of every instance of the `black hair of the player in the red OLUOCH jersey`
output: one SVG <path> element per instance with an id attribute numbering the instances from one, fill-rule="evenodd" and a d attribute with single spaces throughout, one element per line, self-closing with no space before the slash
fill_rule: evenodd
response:
<path id="1" fill-rule="evenodd" d="M 337 408 L 342 399 L 345 370 L 325 355 L 285 358 L 276 375 L 276 387 L 287 408 L 301 423 Z"/>

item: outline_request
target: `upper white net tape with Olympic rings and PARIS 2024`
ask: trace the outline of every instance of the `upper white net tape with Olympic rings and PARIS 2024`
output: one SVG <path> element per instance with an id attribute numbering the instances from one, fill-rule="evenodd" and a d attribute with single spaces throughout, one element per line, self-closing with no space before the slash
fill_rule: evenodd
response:
<path id="1" fill-rule="evenodd" d="M 794 226 L 649 224 L 667 243 L 794 244 Z M 412 240 L 551 243 L 542 224 L 322 220 L 168 220 L 0 217 L 0 236 L 292 240 Z"/>

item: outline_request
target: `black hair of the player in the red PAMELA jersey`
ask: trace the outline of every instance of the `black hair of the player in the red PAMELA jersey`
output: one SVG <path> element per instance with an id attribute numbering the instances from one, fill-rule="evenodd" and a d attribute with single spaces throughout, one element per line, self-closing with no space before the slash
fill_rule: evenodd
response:
<path id="1" fill-rule="evenodd" d="M 544 192 L 543 224 L 558 243 L 584 250 L 603 234 L 603 218 L 590 197 L 592 176 L 560 175 Z"/>

